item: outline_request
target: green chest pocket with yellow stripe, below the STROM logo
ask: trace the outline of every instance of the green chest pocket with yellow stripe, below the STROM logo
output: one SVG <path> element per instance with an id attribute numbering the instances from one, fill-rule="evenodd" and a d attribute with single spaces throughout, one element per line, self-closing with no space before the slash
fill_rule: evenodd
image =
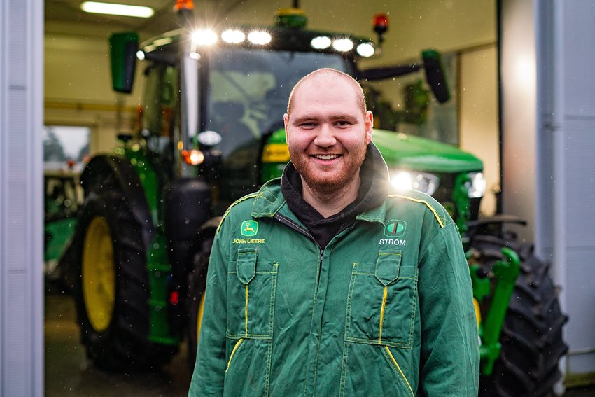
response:
<path id="1" fill-rule="evenodd" d="M 345 340 L 410 348 L 417 307 L 417 267 L 402 251 L 381 249 L 376 263 L 354 263 Z"/>

